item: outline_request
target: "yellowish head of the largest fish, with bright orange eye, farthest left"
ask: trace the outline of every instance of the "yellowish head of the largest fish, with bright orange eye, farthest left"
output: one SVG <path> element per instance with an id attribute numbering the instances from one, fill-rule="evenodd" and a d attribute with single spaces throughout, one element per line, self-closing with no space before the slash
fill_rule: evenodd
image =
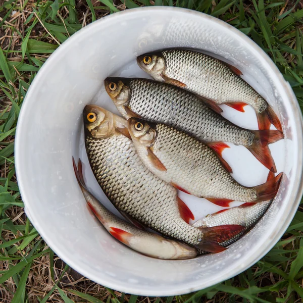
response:
<path id="1" fill-rule="evenodd" d="M 109 137 L 115 132 L 114 115 L 96 105 L 85 106 L 83 121 L 85 134 L 89 133 L 93 138 Z"/>

